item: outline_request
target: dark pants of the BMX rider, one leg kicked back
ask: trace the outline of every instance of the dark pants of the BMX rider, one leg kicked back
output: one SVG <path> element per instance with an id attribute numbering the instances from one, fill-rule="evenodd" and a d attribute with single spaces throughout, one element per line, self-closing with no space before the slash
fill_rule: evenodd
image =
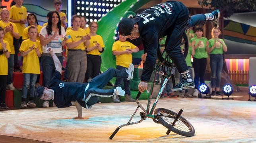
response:
<path id="1" fill-rule="evenodd" d="M 173 60 L 178 72 L 183 73 L 188 70 L 188 66 L 180 50 L 181 38 L 186 29 L 196 25 L 204 25 L 206 16 L 204 14 L 198 14 L 189 17 L 188 8 L 184 4 L 180 4 L 180 13 L 173 26 L 170 27 L 165 41 L 165 51 Z"/>

